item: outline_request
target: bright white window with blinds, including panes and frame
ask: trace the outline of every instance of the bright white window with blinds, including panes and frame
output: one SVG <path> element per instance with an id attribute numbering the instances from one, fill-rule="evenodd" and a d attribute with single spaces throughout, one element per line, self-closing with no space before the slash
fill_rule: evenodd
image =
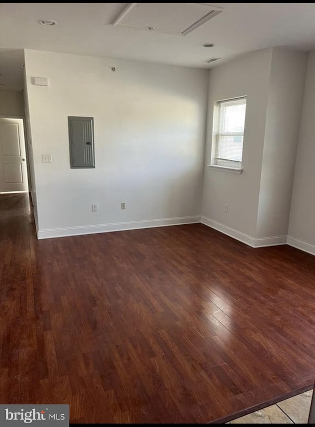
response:
<path id="1" fill-rule="evenodd" d="M 241 169 L 246 97 L 215 103 L 211 165 Z"/>

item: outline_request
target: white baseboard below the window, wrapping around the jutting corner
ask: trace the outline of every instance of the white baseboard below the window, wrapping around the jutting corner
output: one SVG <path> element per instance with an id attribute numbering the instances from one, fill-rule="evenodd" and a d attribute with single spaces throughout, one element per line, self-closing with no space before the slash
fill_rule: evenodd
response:
<path id="1" fill-rule="evenodd" d="M 286 236 L 271 236 L 271 237 L 252 237 L 248 234 L 242 233 L 241 231 L 235 230 L 234 228 L 228 227 L 221 222 L 215 221 L 214 219 L 201 216 L 201 223 L 208 225 L 208 227 L 214 228 L 227 236 L 233 237 L 252 248 L 264 248 L 265 246 L 278 246 L 286 244 Z"/>

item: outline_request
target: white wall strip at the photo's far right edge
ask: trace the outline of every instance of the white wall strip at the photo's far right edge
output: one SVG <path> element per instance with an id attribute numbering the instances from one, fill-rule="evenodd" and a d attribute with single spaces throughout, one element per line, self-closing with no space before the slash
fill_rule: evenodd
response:
<path id="1" fill-rule="evenodd" d="M 315 51 L 309 53 L 288 243 L 315 254 Z"/>

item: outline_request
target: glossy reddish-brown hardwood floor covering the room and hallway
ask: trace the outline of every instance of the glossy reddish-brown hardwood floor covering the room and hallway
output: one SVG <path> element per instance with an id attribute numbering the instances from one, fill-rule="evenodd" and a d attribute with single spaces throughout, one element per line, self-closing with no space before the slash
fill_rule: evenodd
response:
<path id="1" fill-rule="evenodd" d="M 201 224 L 37 241 L 0 196 L 0 403 L 205 423 L 315 379 L 315 258 Z"/>

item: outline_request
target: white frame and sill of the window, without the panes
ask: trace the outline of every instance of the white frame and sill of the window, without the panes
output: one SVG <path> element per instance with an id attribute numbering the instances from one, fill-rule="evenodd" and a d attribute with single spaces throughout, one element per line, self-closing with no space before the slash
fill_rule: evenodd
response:
<path id="1" fill-rule="evenodd" d="M 211 160 L 208 166 L 211 166 L 216 170 L 226 170 L 227 172 L 242 173 L 243 169 L 243 153 L 244 153 L 244 139 L 245 139 L 245 125 L 246 125 L 246 110 L 245 110 L 245 121 L 243 132 L 219 132 L 220 118 L 221 118 L 221 105 L 222 103 L 228 103 L 231 101 L 245 100 L 247 108 L 247 95 L 238 96 L 235 98 L 223 99 L 214 103 L 213 111 L 213 132 L 212 132 L 212 144 L 211 144 Z M 240 162 L 229 159 L 218 158 L 219 141 L 221 136 L 242 136 L 242 160 Z"/>

